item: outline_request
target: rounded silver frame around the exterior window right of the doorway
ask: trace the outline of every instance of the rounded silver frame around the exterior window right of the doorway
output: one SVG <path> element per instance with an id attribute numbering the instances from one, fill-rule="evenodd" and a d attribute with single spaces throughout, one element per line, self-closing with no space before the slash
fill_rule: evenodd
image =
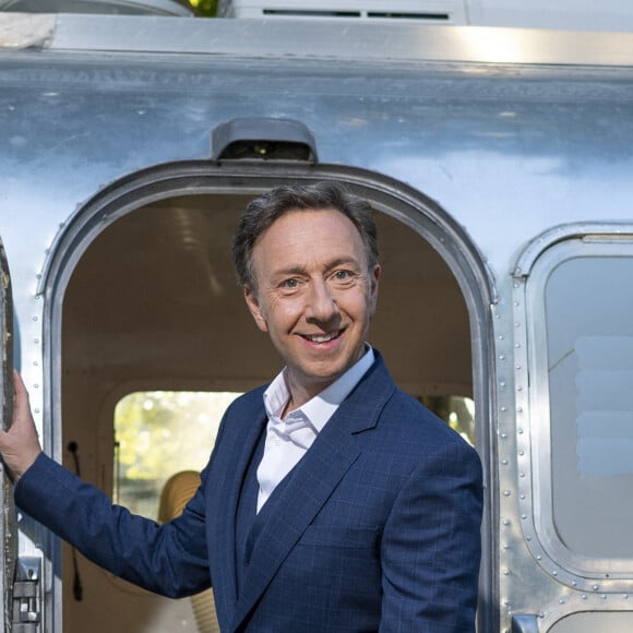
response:
<path id="1" fill-rule="evenodd" d="M 630 592 L 633 558 L 583 556 L 558 536 L 552 505 L 551 398 L 545 291 L 562 263 L 578 258 L 633 258 L 631 225 L 568 225 L 534 240 L 514 271 L 515 370 L 527 368 L 528 410 L 517 421 L 517 452 L 525 457 L 518 493 L 525 542 L 540 566 L 571 587 Z M 522 324 L 525 327 L 519 327 Z M 522 334 L 523 332 L 523 334 Z M 521 413 L 521 411 L 519 411 Z"/>

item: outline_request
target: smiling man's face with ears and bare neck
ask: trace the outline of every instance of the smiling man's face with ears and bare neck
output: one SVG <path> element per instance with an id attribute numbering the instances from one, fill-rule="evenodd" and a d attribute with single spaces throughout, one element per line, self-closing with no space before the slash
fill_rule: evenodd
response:
<path id="1" fill-rule="evenodd" d="M 252 252 L 256 295 L 244 297 L 288 366 L 292 407 L 329 386 L 363 354 L 380 266 L 368 271 L 360 234 L 334 210 L 290 211 Z"/>

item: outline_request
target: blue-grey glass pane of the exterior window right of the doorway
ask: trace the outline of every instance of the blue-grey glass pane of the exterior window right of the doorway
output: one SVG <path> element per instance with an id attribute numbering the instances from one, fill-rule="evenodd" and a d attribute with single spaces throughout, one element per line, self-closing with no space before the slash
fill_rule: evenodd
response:
<path id="1" fill-rule="evenodd" d="M 576 258 L 546 286 L 554 525 L 590 557 L 633 551 L 632 278 L 633 260 Z"/>

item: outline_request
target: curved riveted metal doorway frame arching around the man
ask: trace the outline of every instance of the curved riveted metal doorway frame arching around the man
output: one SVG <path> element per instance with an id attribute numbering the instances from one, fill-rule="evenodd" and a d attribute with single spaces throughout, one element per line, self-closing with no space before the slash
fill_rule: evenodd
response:
<path id="1" fill-rule="evenodd" d="M 468 311 L 473 395 L 476 403 L 476 444 L 483 464 L 486 506 L 482 523 L 482 560 L 478 610 L 479 631 L 498 626 L 498 477 L 492 411 L 495 402 L 495 365 L 490 307 L 495 288 L 482 255 L 446 211 L 411 187 L 366 169 L 298 162 L 191 160 L 157 165 L 112 182 L 81 208 L 62 228 L 50 250 L 38 294 L 45 297 L 44 383 L 48 452 L 61 462 L 61 326 L 65 288 L 91 242 L 120 217 L 158 200 L 181 194 L 240 194 L 253 198 L 282 182 L 310 183 L 337 180 L 350 193 L 368 199 L 380 213 L 407 225 L 443 259 L 455 276 Z M 52 547 L 51 565 L 59 569 L 59 548 Z M 50 573 L 50 570 L 49 570 Z M 52 577 L 52 575 L 51 575 Z M 61 623 L 61 586 L 56 578 L 51 597 L 53 621 Z M 59 600 L 59 604 L 57 601 Z M 55 631 L 58 631 L 56 628 Z M 61 631 L 61 628 L 59 628 Z"/>

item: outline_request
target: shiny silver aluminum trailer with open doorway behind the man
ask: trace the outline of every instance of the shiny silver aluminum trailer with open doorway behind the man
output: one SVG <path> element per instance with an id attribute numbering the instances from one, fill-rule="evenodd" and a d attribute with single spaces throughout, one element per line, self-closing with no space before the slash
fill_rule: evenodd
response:
<path id="1" fill-rule="evenodd" d="M 479 633 L 633 629 L 633 35 L 7 13 L 0 47 L 4 426 L 17 367 L 45 451 L 158 518 L 278 370 L 238 214 L 339 180 L 377 211 L 372 344 L 483 463 Z M 199 630 L 2 503 L 5 631 Z"/>

